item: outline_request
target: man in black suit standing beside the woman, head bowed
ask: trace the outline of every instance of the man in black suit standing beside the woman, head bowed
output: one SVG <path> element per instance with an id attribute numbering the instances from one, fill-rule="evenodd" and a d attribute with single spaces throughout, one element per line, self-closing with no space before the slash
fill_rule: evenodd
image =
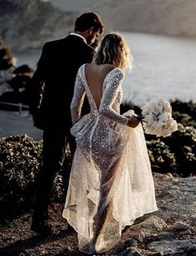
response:
<path id="1" fill-rule="evenodd" d="M 43 130 L 43 166 L 37 177 L 31 227 L 37 233 L 51 233 L 47 218 L 54 180 L 64 162 L 67 143 L 72 156 L 76 149 L 70 133 L 76 73 L 83 63 L 91 63 L 94 48 L 90 45 L 103 29 L 98 14 L 82 14 L 76 19 L 74 33 L 43 46 L 32 78 L 30 113 L 34 125 Z"/>

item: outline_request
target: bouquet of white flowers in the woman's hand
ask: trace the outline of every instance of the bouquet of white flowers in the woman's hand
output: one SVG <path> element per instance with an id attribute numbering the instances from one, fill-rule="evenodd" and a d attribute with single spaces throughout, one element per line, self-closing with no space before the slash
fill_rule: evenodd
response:
<path id="1" fill-rule="evenodd" d="M 178 129 L 176 121 L 172 118 L 172 108 L 164 98 L 146 103 L 138 117 L 143 121 L 145 133 L 157 137 L 167 137 Z"/>

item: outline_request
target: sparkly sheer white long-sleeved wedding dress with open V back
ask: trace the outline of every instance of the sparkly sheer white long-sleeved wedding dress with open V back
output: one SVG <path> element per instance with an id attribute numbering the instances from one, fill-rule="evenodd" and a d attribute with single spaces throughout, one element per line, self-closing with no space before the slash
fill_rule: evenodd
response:
<path id="1" fill-rule="evenodd" d="M 79 249 L 85 253 L 109 250 L 126 225 L 157 210 L 143 128 L 126 125 L 133 111 L 120 115 L 124 78 L 120 68 L 107 74 L 97 108 L 86 83 L 85 65 L 76 77 L 71 103 L 76 153 L 63 217 L 76 229 Z M 85 94 L 91 113 L 81 118 Z"/>

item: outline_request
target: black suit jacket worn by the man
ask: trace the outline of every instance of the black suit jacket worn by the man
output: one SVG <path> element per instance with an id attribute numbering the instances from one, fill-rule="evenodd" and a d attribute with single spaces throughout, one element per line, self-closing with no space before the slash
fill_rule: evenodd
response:
<path id="1" fill-rule="evenodd" d="M 83 63 L 91 63 L 93 54 L 94 48 L 74 35 L 44 45 L 32 78 L 29 106 L 38 128 L 70 130 L 76 73 Z"/>

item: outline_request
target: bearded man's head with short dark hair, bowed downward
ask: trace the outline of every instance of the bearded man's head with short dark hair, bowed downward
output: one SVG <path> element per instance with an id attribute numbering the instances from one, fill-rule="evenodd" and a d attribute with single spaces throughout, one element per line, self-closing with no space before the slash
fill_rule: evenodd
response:
<path id="1" fill-rule="evenodd" d="M 80 33 L 86 38 L 87 43 L 91 44 L 103 33 L 104 23 L 97 13 L 83 13 L 76 19 L 74 31 Z"/>

